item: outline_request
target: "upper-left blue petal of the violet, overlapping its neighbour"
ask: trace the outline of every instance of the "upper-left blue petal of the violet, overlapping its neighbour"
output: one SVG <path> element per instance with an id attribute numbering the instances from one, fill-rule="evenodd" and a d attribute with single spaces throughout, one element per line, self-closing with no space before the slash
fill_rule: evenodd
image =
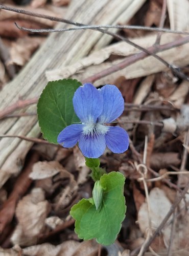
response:
<path id="1" fill-rule="evenodd" d="M 91 83 L 80 86 L 73 98 L 76 115 L 84 123 L 96 123 L 102 113 L 103 97 Z"/>

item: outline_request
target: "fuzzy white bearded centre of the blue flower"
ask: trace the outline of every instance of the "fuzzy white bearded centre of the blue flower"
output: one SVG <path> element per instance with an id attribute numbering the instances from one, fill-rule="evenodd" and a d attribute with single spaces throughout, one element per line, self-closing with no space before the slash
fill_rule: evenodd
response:
<path id="1" fill-rule="evenodd" d="M 92 135 L 93 134 L 106 134 L 109 130 L 109 127 L 103 125 L 101 123 L 83 123 L 85 126 L 83 127 L 84 135 Z"/>

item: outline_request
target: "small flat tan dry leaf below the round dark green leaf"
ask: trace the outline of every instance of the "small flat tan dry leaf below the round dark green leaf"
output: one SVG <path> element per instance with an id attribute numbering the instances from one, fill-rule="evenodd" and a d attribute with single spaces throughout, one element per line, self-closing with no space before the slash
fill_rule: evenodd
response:
<path id="1" fill-rule="evenodd" d="M 33 165 L 30 178 L 33 180 L 41 180 L 53 177 L 64 170 L 63 166 L 57 161 L 39 161 Z"/>

